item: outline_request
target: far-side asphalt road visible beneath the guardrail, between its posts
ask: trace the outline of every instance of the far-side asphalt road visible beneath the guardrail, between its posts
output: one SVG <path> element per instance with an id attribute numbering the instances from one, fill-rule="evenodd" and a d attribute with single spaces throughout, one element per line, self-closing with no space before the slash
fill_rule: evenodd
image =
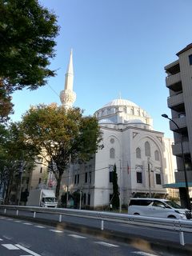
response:
<path id="1" fill-rule="evenodd" d="M 1 210 L 1 212 L 3 211 Z M 14 216 L 16 214 L 16 212 L 13 210 L 7 210 L 6 213 L 13 214 Z M 25 211 L 19 211 L 18 215 L 33 217 L 33 213 L 25 212 Z M 58 221 L 58 214 L 38 213 L 36 214 L 36 218 L 43 218 L 47 220 Z M 87 218 L 62 216 L 62 222 L 74 223 L 82 226 L 90 226 L 98 229 L 100 229 L 101 227 L 100 220 L 87 219 Z M 162 241 L 176 242 L 179 244 L 179 233 L 178 231 L 174 231 L 174 230 L 155 229 L 147 226 L 132 226 L 127 224 L 119 224 L 119 223 L 112 223 L 112 222 L 104 222 L 104 229 L 110 230 L 110 231 L 111 230 L 119 231 L 127 235 L 140 235 L 143 238 L 154 238 L 154 239 L 156 238 L 158 241 L 162 240 Z M 185 238 L 185 243 L 187 245 L 192 246 L 192 233 L 185 233 L 184 238 Z"/>

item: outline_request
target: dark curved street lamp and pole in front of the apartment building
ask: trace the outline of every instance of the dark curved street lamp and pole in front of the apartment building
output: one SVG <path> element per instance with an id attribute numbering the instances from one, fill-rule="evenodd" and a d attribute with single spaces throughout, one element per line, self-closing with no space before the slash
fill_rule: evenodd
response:
<path id="1" fill-rule="evenodd" d="M 178 127 L 178 124 L 174 122 L 171 118 L 168 117 L 167 114 L 162 114 L 163 118 L 169 119 L 171 122 L 174 123 L 175 126 L 177 126 L 179 134 L 180 134 L 180 139 L 181 139 L 181 146 L 182 146 L 182 165 L 183 165 L 183 170 L 184 170 L 184 175 L 185 175 L 185 182 L 186 182 L 186 206 L 189 210 L 191 210 L 191 205 L 190 205 L 190 195 L 189 195 L 189 186 L 188 186 L 188 181 L 187 181 L 187 174 L 186 174 L 186 164 L 185 164 L 185 156 L 183 152 L 183 142 L 182 142 L 182 132 L 181 129 Z"/>

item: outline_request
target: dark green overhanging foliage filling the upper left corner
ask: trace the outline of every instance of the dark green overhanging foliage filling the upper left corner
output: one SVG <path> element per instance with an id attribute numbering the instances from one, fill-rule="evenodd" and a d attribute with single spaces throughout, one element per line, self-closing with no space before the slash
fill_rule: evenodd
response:
<path id="1" fill-rule="evenodd" d="M 6 106 L 3 116 L 12 109 L 10 94 L 14 90 L 35 90 L 54 76 L 49 65 L 57 34 L 57 17 L 38 0 L 0 0 L 0 103 Z"/>

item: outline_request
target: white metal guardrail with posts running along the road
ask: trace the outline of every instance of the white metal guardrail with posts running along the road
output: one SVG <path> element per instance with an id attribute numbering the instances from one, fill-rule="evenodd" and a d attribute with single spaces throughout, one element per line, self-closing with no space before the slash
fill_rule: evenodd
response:
<path id="1" fill-rule="evenodd" d="M 6 214 L 6 210 L 15 210 L 15 214 L 18 216 L 20 211 L 28 211 L 33 213 L 33 217 L 36 217 L 36 213 L 46 214 L 58 214 L 58 222 L 62 222 L 62 215 L 68 215 L 70 217 L 78 218 L 92 218 L 101 220 L 101 230 L 104 230 L 104 221 L 118 222 L 129 225 L 147 226 L 153 228 L 161 228 L 165 230 L 175 230 L 179 233 L 179 241 L 182 246 L 185 245 L 183 232 L 192 233 L 192 219 L 182 220 L 177 218 L 151 218 L 146 216 L 129 215 L 129 214 L 114 214 L 103 211 L 93 210 L 74 210 L 63 208 L 42 208 L 35 206 L 9 206 L 1 205 L 0 210 Z"/>

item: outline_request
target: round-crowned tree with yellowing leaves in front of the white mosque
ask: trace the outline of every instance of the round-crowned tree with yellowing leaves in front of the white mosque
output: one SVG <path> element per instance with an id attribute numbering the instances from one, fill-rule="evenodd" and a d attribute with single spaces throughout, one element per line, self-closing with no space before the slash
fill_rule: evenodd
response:
<path id="1" fill-rule="evenodd" d="M 57 180 L 57 198 L 70 162 L 88 161 L 102 140 L 97 118 L 83 117 L 79 108 L 66 110 L 56 104 L 31 107 L 22 117 L 21 130 L 26 146 L 50 163 Z"/>

